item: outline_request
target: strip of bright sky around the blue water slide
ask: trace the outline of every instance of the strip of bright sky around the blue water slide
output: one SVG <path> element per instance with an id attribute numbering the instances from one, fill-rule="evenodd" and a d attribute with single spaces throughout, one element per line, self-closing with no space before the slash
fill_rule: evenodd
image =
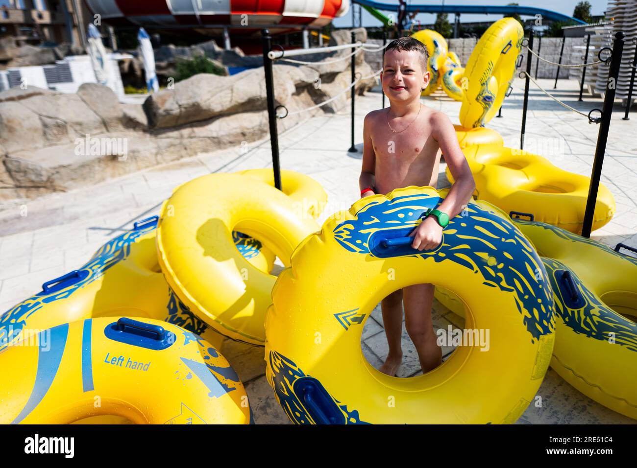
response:
<path id="1" fill-rule="evenodd" d="M 398 0 L 376 0 L 378 3 L 387 3 L 392 5 L 398 5 Z M 494 5 L 504 6 L 508 3 L 518 3 L 520 6 L 535 6 L 536 8 L 545 8 L 546 10 L 557 11 L 558 13 L 564 13 L 564 15 L 573 16 L 573 9 L 579 0 L 405 0 L 407 4 L 447 4 L 447 5 Z M 588 0 L 590 3 L 590 13 L 592 15 L 602 15 L 606 10 L 608 4 L 607 0 Z M 368 26 L 380 26 L 382 25 L 379 20 L 371 16 L 368 11 L 362 10 L 362 25 Z M 387 11 L 385 14 L 389 13 Z M 500 18 L 501 15 L 461 15 L 461 22 L 474 22 L 474 21 L 495 21 Z M 449 15 L 449 21 L 453 23 L 454 15 Z M 522 17 L 523 19 L 530 17 Z M 434 14 L 420 14 L 416 17 L 422 24 L 433 24 L 436 20 Z M 351 27 L 352 26 L 352 11 L 348 11 L 345 16 L 341 18 L 335 18 L 333 21 L 335 27 Z"/>

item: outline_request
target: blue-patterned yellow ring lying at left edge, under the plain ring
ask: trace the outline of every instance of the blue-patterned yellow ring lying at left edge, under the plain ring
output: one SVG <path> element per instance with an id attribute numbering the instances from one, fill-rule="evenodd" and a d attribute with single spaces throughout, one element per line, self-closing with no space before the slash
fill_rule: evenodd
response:
<path id="1" fill-rule="evenodd" d="M 108 241 L 80 269 L 0 316 L 0 351 L 23 330 L 46 330 L 83 318 L 131 315 L 166 320 L 200 334 L 215 348 L 223 336 L 199 320 L 168 287 L 157 261 L 157 216 Z"/>

